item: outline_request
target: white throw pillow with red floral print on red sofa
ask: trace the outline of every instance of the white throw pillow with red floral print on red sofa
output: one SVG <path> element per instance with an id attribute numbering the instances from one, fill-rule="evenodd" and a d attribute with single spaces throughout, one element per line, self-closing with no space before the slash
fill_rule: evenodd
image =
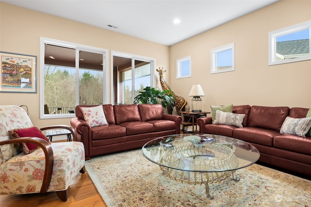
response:
<path id="1" fill-rule="evenodd" d="M 95 107 L 81 107 L 84 120 L 90 127 L 108 125 L 102 105 Z"/>

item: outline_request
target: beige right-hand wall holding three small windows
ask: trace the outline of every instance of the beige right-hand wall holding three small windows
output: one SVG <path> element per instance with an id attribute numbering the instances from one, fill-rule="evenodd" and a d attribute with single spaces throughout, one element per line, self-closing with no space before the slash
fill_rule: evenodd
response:
<path id="1" fill-rule="evenodd" d="M 170 48 L 170 83 L 191 103 L 201 84 L 210 105 L 249 104 L 311 108 L 311 61 L 268 66 L 268 32 L 311 20 L 311 0 L 282 0 Z M 235 71 L 210 74 L 210 50 L 235 43 Z M 191 56 L 191 78 L 176 79 L 176 59 Z M 180 87 L 183 86 L 183 87 Z"/>

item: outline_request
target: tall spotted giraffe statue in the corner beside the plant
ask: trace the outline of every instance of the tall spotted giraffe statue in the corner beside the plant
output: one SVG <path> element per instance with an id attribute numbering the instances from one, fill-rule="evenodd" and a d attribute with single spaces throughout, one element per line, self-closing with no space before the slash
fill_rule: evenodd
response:
<path id="1" fill-rule="evenodd" d="M 171 92 L 169 92 L 169 93 L 172 94 L 175 98 L 174 107 L 176 108 L 177 114 L 181 115 L 180 111 L 187 104 L 186 99 L 184 97 L 181 97 L 181 96 L 176 96 L 175 93 L 172 91 L 171 87 L 166 83 L 166 81 L 163 78 L 163 73 L 165 73 L 166 70 L 163 71 L 163 68 L 162 69 L 159 68 L 159 69 L 156 69 L 156 71 L 159 73 L 159 76 L 160 76 L 160 84 L 161 84 L 162 90 L 163 91 L 171 90 Z M 168 107 L 167 112 L 168 112 L 168 114 L 172 114 L 173 113 L 173 107 Z"/>

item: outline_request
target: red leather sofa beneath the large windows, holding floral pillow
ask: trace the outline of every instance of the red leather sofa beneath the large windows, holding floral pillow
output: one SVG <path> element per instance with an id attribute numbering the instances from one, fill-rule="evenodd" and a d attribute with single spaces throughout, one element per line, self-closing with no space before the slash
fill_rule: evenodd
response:
<path id="1" fill-rule="evenodd" d="M 75 107 L 70 125 L 77 132 L 77 140 L 90 157 L 142 147 L 148 141 L 180 133 L 182 117 L 163 113 L 161 104 L 103 105 L 108 125 L 90 127 L 84 120 L 81 107 Z"/>

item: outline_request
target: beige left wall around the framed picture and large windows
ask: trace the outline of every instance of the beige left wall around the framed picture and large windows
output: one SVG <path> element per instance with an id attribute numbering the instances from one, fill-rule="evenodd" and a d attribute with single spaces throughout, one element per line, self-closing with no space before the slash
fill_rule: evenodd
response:
<path id="1" fill-rule="evenodd" d="M 40 37 L 108 49 L 109 77 L 111 50 L 155 58 L 155 68 L 169 67 L 168 46 L 0 2 L 0 51 L 37 56 L 37 93 L 0 93 L 0 105 L 28 106 L 37 127 L 69 125 L 70 121 L 70 118 L 39 118 Z M 160 87 L 158 76 L 156 82 Z"/>

